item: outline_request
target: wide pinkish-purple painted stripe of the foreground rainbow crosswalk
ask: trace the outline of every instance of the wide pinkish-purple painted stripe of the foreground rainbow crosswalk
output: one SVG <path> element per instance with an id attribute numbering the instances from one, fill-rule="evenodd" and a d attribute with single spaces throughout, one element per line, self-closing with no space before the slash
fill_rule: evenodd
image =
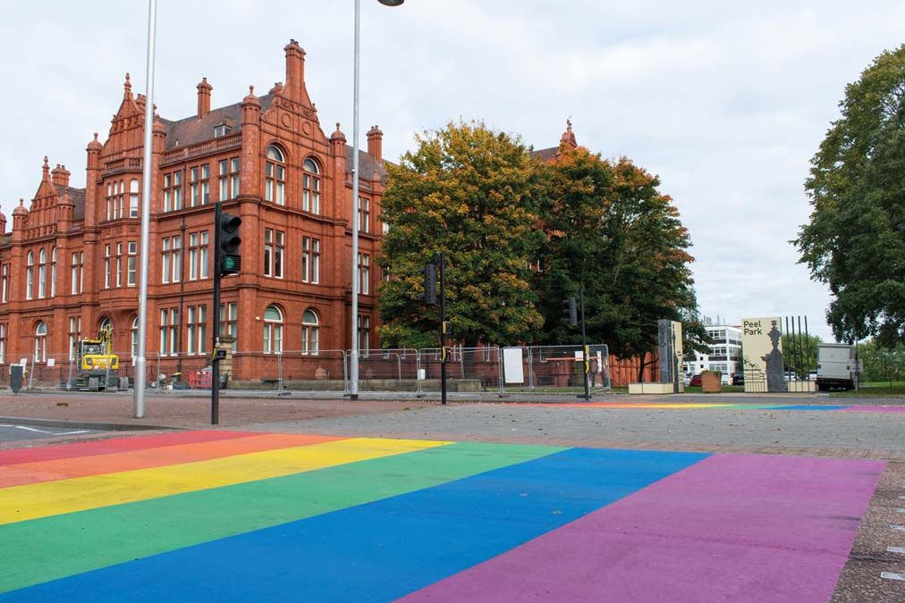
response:
<path id="1" fill-rule="evenodd" d="M 884 466 L 708 457 L 403 600 L 825 603 Z"/>

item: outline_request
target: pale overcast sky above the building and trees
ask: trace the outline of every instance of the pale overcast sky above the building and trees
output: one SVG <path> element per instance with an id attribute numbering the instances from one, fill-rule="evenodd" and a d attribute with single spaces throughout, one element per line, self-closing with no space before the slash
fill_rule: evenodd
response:
<path id="1" fill-rule="evenodd" d="M 106 137 L 124 74 L 145 90 L 147 2 L 0 0 L 0 205 L 37 190 L 43 156 L 83 186 L 85 146 Z M 905 3 L 605 0 L 362 1 L 362 139 L 378 124 L 396 158 L 415 132 L 481 118 L 535 148 L 571 116 L 580 145 L 659 174 L 691 231 L 700 309 L 809 316 L 829 294 L 796 264 L 810 212 L 808 161 L 846 83 L 905 42 Z M 869 7 L 868 7 L 869 6 Z M 285 80 L 282 47 L 308 52 L 321 127 L 351 142 L 352 0 L 159 0 L 156 102 L 195 112 Z"/>

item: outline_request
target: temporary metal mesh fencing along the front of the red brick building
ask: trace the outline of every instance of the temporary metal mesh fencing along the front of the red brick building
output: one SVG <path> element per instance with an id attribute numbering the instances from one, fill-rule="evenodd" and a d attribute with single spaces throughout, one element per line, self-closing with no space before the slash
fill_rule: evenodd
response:
<path id="1" fill-rule="evenodd" d="M 591 391 L 610 388 L 609 354 L 606 345 L 588 346 Z M 452 346 L 446 363 L 447 391 L 452 393 L 556 393 L 584 391 L 584 365 L 580 345 L 478 347 Z M 131 354 L 119 356 L 118 377 L 134 382 Z M 221 387 L 226 389 L 276 391 L 350 390 L 349 359 L 345 350 L 317 353 L 233 353 L 221 363 Z M 434 394 L 441 391 L 440 348 L 359 350 L 358 391 L 399 391 Z M 7 359 L 11 360 L 11 359 Z M 74 387 L 78 363 L 67 356 L 25 357 L 25 387 Z M 0 385 L 9 384 L 9 364 L 0 363 Z M 112 376 L 112 375 L 111 375 Z M 152 389 L 197 389 L 211 387 L 207 355 L 148 354 L 148 387 Z"/>

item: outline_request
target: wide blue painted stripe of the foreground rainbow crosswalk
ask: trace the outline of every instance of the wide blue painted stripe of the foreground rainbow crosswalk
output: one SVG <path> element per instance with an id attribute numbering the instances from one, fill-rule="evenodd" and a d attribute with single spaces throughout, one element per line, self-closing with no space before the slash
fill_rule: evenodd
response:
<path id="1" fill-rule="evenodd" d="M 411 494 L 14 590 L 0 600 L 392 600 L 707 456 L 571 448 Z"/>

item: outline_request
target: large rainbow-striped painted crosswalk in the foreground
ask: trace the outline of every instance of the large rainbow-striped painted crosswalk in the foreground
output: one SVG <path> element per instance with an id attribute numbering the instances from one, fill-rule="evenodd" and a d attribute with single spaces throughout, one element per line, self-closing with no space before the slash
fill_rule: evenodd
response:
<path id="1" fill-rule="evenodd" d="M 783 598 L 757 600 L 825 601 L 883 467 L 228 431 L 0 451 L 0 601 L 662 601 L 758 585 Z"/>

